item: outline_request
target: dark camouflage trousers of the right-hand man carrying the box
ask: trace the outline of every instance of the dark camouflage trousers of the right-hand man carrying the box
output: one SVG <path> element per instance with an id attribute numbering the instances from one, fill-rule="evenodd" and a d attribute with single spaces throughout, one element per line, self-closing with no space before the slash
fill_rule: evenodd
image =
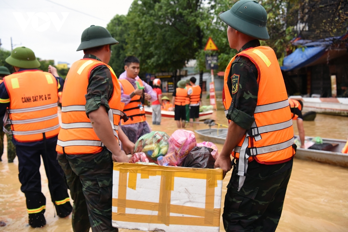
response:
<path id="1" fill-rule="evenodd" d="M 223 209 L 223 225 L 227 232 L 275 231 L 287 184 L 292 171 L 293 159 L 282 164 L 248 164 L 246 178 L 238 192 L 238 160 L 227 185 Z"/>

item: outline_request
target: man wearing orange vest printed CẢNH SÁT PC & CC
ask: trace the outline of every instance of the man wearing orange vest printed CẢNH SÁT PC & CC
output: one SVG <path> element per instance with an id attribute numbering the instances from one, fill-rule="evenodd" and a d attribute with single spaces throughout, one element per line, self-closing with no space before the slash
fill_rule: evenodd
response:
<path id="1" fill-rule="evenodd" d="M 60 131 L 57 94 L 64 81 L 38 70 L 40 63 L 29 48 L 13 49 L 6 62 L 16 72 L 6 76 L 0 84 L 0 116 L 8 108 L 29 225 L 42 227 L 46 225 L 46 198 L 41 192 L 40 155 L 58 216 L 66 217 L 72 211 L 55 149 Z"/>

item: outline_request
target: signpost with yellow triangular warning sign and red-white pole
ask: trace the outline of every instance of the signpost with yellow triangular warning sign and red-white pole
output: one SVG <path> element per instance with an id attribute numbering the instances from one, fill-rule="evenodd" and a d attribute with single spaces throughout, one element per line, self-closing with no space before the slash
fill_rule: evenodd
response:
<path id="1" fill-rule="evenodd" d="M 211 37 L 209 37 L 208 42 L 204 48 L 204 51 L 207 51 L 207 50 L 212 50 L 212 51 L 219 50 Z M 212 105 L 214 107 L 214 109 L 217 110 L 216 98 L 215 98 L 215 84 L 214 84 L 214 69 L 219 68 L 219 65 L 217 63 L 217 54 L 212 55 L 212 56 L 206 54 L 205 55 L 205 66 L 206 66 L 206 69 L 210 69 L 210 73 L 212 75 L 212 82 L 209 83 L 210 105 Z"/>

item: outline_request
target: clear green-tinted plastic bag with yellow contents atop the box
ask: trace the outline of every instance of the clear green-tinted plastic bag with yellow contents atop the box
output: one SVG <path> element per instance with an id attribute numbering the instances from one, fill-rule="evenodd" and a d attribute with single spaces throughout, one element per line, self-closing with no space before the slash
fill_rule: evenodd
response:
<path id="1" fill-rule="evenodd" d="M 141 136 L 135 143 L 134 152 L 144 152 L 147 157 L 156 161 L 157 157 L 167 154 L 169 135 L 161 131 L 152 131 Z"/>

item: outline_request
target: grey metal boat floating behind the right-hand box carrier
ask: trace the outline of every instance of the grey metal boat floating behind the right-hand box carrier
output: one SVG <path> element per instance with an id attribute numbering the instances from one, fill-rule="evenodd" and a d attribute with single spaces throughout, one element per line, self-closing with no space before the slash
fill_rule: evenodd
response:
<path id="1" fill-rule="evenodd" d="M 227 129 L 202 129 L 195 131 L 201 139 L 213 143 L 224 144 L 227 135 Z M 306 140 L 311 140 L 313 137 L 307 137 Z M 341 150 L 346 144 L 346 140 L 341 139 L 325 139 L 323 143 L 331 143 L 332 148 L 328 151 L 297 148 L 295 158 L 317 161 L 325 164 L 332 164 L 342 167 L 348 167 L 348 154 L 341 153 Z"/>

